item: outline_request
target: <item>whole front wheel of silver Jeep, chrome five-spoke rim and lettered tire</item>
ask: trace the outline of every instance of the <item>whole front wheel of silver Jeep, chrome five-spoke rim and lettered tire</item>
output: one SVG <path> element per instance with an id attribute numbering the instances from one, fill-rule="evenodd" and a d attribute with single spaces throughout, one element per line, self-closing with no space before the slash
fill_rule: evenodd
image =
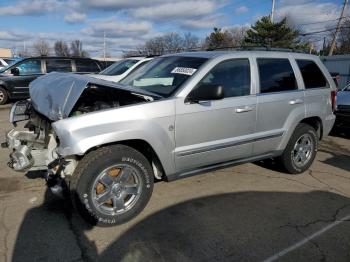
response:
<path id="1" fill-rule="evenodd" d="M 100 226 L 113 226 L 144 209 L 153 191 L 153 171 L 147 159 L 131 147 L 99 148 L 80 161 L 71 190 L 84 218 Z"/>

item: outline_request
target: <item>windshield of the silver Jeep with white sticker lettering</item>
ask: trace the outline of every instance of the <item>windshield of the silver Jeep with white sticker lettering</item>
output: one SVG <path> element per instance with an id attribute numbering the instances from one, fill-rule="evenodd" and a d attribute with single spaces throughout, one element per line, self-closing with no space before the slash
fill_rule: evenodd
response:
<path id="1" fill-rule="evenodd" d="M 207 61 L 200 57 L 169 56 L 153 59 L 120 81 L 169 97 Z"/>

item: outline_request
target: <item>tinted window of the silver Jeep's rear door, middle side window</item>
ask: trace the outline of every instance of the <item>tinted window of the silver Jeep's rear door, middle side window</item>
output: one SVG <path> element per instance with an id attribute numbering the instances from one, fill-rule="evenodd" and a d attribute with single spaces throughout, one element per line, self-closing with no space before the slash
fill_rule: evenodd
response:
<path id="1" fill-rule="evenodd" d="M 260 93 L 298 89 L 293 68 L 288 59 L 258 58 Z"/>

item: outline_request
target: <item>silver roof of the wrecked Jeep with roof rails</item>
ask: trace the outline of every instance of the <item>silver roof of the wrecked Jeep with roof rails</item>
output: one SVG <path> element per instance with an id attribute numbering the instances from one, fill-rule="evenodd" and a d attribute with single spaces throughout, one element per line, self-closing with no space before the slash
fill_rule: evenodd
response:
<path id="1" fill-rule="evenodd" d="M 184 57 L 202 57 L 202 58 L 217 58 L 227 55 L 234 55 L 239 54 L 242 56 L 278 56 L 286 57 L 286 55 L 292 55 L 295 57 L 308 57 L 308 58 L 315 58 L 317 56 L 305 54 L 305 53 L 299 53 L 299 52 L 284 52 L 284 51 L 198 51 L 198 52 L 183 52 L 183 53 L 176 53 L 176 54 L 169 54 L 166 56 L 184 56 Z"/>

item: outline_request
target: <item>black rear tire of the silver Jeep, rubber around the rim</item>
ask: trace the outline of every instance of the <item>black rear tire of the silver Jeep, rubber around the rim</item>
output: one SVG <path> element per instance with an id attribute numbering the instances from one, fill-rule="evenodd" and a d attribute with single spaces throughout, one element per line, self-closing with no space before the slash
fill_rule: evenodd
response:
<path id="1" fill-rule="evenodd" d="M 295 153 L 298 150 L 295 150 L 296 143 L 302 139 L 303 136 L 310 138 L 310 143 L 312 143 L 312 149 L 308 155 L 308 160 L 304 164 L 298 165 L 297 162 L 293 159 Z M 300 174 L 305 172 L 312 165 L 316 152 L 318 149 L 318 136 L 316 130 L 308 124 L 298 124 L 293 135 L 291 136 L 287 147 L 285 148 L 282 156 L 280 157 L 281 164 L 290 174 Z"/>

